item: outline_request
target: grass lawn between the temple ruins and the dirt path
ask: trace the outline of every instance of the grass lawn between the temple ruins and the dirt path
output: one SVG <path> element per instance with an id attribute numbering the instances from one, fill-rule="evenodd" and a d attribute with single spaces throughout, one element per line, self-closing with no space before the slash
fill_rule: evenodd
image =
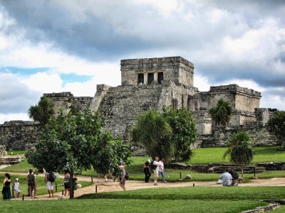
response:
<path id="1" fill-rule="evenodd" d="M 269 162 L 269 161 L 285 161 L 285 152 L 277 151 L 278 147 L 257 147 L 257 154 L 254 155 L 253 163 L 257 162 Z M 208 164 L 208 163 L 229 163 L 228 160 L 222 160 L 222 155 L 227 148 L 197 148 L 194 151 L 194 156 L 192 159 L 187 162 L 192 165 L 197 164 Z M 128 165 L 126 169 L 130 173 L 130 180 L 144 180 L 143 174 L 143 164 L 145 161 L 150 158 L 147 156 L 144 157 L 132 157 L 131 165 Z M 26 161 L 18 163 L 16 165 L 11 165 L 9 168 L 4 168 L 1 171 L 7 172 L 19 172 L 19 173 L 27 173 L 28 169 L 32 168 Z M 216 181 L 219 178 L 219 174 L 212 173 L 197 173 L 191 170 L 167 170 L 167 173 L 170 175 L 170 178 L 167 178 L 169 182 L 175 182 L 181 177 L 185 178 L 185 175 L 190 174 L 192 176 L 192 180 L 195 181 Z M 83 171 L 82 175 L 91 176 L 97 178 L 97 174 L 95 171 L 87 170 Z M 284 171 L 266 171 L 264 173 L 257 173 L 258 178 L 266 179 L 266 178 L 285 178 Z M 247 180 L 252 179 L 254 174 L 244 174 L 244 178 Z M 153 174 L 152 177 L 153 178 Z"/>

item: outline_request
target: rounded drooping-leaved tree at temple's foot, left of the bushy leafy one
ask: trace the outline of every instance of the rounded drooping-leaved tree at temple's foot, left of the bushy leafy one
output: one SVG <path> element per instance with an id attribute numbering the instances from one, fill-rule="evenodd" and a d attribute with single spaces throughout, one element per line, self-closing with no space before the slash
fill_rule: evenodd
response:
<path id="1" fill-rule="evenodd" d="M 133 141 L 142 143 L 152 159 L 155 157 L 170 159 L 173 153 L 171 143 L 172 129 L 158 111 L 150 110 L 138 116 L 131 136 Z"/>

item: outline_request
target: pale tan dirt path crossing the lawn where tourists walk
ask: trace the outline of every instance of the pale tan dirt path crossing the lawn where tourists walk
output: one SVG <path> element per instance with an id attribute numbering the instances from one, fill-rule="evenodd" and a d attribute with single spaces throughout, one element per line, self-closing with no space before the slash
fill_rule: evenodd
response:
<path id="1" fill-rule="evenodd" d="M 4 173 L 4 172 L 0 172 Z M 26 175 L 26 173 L 11 173 L 11 174 L 17 174 L 17 175 Z M 43 178 L 44 174 L 38 174 L 38 177 Z M 61 175 L 60 175 L 61 177 Z M 91 181 L 91 178 L 88 176 L 77 176 L 79 181 Z M 198 181 L 192 181 L 192 182 L 158 182 L 158 185 L 153 185 L 153 182 L 142 182 L 139 180 L 128 180 L 126 182 L 126 189 L 127 190 L 138 190 L 138 189 L 146 189 L 146 188 L 157 188 L 157 187 L 222 187 L 221 185 L 217 185 L 216 182 L 198 182 Z M 285 178 L 271 178 L 271 179 L 256 179 L 251 180 L 249 183 L 242 183 L 239 184 L 239 187 L 261 187 L 261 186 L 285 186 Z M 97 178 L 94 179 L 93 185 L 90 185 L 88 187 L 83 187 L 74 192 L 75 197 L 79 197 L 81 195 L 89 194 L 89 193 L 95 193 L 97 187 L 97 192 L 114 192 L 114 191 L 122 191 L 122 188 L 119 186 L 118 181 L 113 182 L 100 182 L 100 184 L 97 182 Z M 57 200 L 58 197 L 61 196 L 61 192 L 57 192 L 54 194 L 53 198 L 47 198 L 48 195 L 39 195 L 37 196 L 37 199 L 34 200 Z M 21 200 L 19 198 L 18 200 Z M 33 200 L 26 198 L 26 200 Z"/>

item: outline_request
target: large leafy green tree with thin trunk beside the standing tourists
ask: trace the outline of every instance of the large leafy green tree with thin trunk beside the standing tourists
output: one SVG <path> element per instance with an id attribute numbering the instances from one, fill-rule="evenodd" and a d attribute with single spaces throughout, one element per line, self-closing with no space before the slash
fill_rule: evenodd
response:
<path id="1" fill-rule="evenodd" d="M 60 114 L 51 119 L 43 128 L 41 141 L 36 143 L 36 151 L 26 153 L 28 163 L 46 171 L 69 170 L 71 173 L 71 198 L 74 197 L 73 176 L 83 170 L 91 169 L 96 159 L 98 144 L 112 143 L 109 133 L 101 133 L 103 119 L 90 110 Z M 115 151 L 122 151 L 126 155 L 126 146 L 116 143 Z M 108 149 L 115 153 L 112 147 Z"/>

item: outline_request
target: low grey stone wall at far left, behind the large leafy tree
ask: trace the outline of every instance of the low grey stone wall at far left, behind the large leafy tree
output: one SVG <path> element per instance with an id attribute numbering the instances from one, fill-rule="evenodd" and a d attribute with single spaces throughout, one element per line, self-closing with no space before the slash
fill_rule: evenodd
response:
<path id="1" fill-rule="evenodd" d="M 24 150 L 26 143 L 36 143 L 40 137 L 38 122 L 9 121 L 0 125 L 0 145 L 7 149 Z"/>

